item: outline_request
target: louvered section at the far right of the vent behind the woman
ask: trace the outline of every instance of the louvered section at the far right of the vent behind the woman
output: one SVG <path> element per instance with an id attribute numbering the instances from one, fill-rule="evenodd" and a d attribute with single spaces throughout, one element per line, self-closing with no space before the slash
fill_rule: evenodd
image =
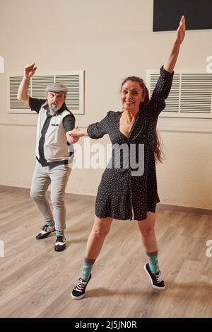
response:
<path id="1" fill-rule="evenodd" d="M 211 113 L 212 74 L 182 74 L 181 113 Z"/>

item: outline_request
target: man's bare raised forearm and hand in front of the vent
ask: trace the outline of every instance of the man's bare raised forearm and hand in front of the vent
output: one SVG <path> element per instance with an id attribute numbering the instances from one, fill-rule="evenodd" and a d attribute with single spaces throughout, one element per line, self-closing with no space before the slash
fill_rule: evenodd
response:
<path id="1" fill-rule="evenodd" d="M 22 101 L 25 105 L 29 107 L 29 96 L 28 96 L 28 87 L 30 84 L 30 78 L 35 74 L 35 70 L 37 67 L 35 67 L 35 64 L 28 64 L 24 68 L 24 75 L 23 80 L 20 83 L 20 86 L 18 88 L 18 94 L 17 98 L 18 101 Z"/>

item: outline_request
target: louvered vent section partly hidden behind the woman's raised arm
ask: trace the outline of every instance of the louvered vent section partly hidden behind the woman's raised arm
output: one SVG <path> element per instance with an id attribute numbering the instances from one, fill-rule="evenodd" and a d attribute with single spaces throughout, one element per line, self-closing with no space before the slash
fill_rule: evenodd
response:
<path id="1" fill-rule="evenodd" d="M 157 84 L 159 74 L 151 74 L 151 95 Z M 163 112 L 179 112 L 179 91 L 180 91 L 180 75 L 175 74 L 172 82 L 172 88 L 170 94 L 165 101 L 166 107 Z"/>

